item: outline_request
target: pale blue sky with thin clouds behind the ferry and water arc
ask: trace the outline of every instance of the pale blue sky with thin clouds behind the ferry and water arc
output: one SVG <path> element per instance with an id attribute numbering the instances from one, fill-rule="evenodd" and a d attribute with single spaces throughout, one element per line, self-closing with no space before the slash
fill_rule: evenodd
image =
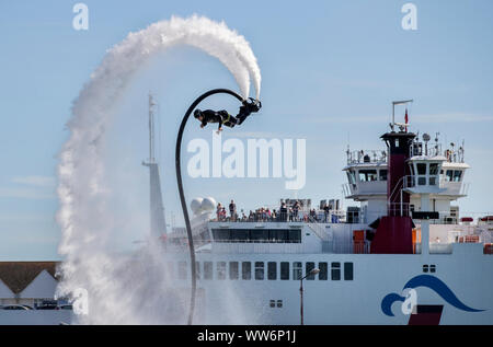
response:
<path id="1" fill-rule="evenodd" d="M 89 31 L 79 32 L 71 26 L 77 2 L 0 2 L 0 259 L 59 257 L 55 172 L 71 103 L 106 49 L 173 14 L 223 20 L 251 43 L 264 108 L 223 137 L 306 139 L 307 185 L 299 197 L 340 198 L 348 141 L 354 149 L 383 149 L 378 137 L 387 131 L 391 101 L 414 99 L 413 130 L 466 141 L 472 166 L 466 181 L 472 185 L 461 210 L 493 211 L 491 1 L 412 1 L 417 31 L 401 27 L 406 1 L 84 1 Z M 135 184 L 122 178 L 122 201 L 125 193 L 138 195 L 145 215 L 147 176 L 139 165 L 147 154 L 146 95 L 152 90 L 160 104 L 164 203 L 168 213 L 180 215 L 173 171 L 179 115 L 217 86 L 237 89 L 217 60 L 192 48 L 172 49 L 141 69 L 115 109 L 121 120 L 108 136 L 114 174 L 135 164 L 129 177 L 138 177 Z M 233 107 L 222 100 L 210 105 Z M 197 137 L 209 140 L 210 132 L 188 126 L 185 143 Z M 188 198 L 234 197 L 248 209 L 294 196 L 284 178 L 185 178 L 185 185 Z"/>

